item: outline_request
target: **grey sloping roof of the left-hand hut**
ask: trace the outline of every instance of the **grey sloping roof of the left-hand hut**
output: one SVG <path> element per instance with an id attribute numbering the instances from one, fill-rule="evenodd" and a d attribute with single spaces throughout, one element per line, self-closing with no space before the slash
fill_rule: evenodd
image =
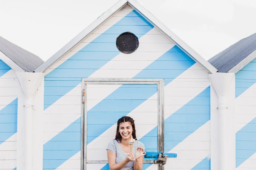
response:
<path id="1" fill-rule="evenodd" d="M 0 59 L 13 68 L 14 71 L 33 72 L 43 64 L 43 60 L 37 55 L 20 48 L 19 46 L 0 37 Z"/>

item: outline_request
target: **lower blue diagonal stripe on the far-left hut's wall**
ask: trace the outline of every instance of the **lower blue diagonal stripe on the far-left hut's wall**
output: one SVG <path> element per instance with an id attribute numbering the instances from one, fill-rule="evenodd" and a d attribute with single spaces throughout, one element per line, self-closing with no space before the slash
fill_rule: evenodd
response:
<path id="1" fill-rule="evenodd" d="M 17 132 L 18 98 L 0 110 L 0 144 Z"/>

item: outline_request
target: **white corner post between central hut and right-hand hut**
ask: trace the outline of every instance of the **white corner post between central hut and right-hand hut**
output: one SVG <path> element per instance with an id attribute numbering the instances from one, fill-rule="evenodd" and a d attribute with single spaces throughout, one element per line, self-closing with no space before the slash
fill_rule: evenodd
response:
<path id="1" fill-rule="evenodd" d="M 213 73 L 209 78 L 214 89 L 211 90 L 211 169 L 235 170 L 235 75 Z"/>

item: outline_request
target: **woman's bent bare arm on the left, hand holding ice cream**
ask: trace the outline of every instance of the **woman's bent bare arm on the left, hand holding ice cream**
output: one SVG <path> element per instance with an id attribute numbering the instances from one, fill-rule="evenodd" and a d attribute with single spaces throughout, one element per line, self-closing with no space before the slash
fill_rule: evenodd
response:
<path id="1" fill-rule="evenodd" d="M 133 160 L 132 154 L 127 154 L 126 159 L 119 163 L 116 163 L 117 154 L 111 150 L 107 150 L 108 154 L 108 166 L 110 170 L 121 170 L 129 161 Z"/>

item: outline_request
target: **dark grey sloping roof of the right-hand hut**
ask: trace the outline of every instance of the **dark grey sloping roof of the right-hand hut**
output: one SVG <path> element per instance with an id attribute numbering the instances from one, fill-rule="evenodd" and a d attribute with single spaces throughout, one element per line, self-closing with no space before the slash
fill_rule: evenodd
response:
<path id="1" fill-rule="evenodd" d="M 208 61 L 217 68 L 218 72 L 237 73 L 255 57 L 256 33 L 236 42 Z"/>

